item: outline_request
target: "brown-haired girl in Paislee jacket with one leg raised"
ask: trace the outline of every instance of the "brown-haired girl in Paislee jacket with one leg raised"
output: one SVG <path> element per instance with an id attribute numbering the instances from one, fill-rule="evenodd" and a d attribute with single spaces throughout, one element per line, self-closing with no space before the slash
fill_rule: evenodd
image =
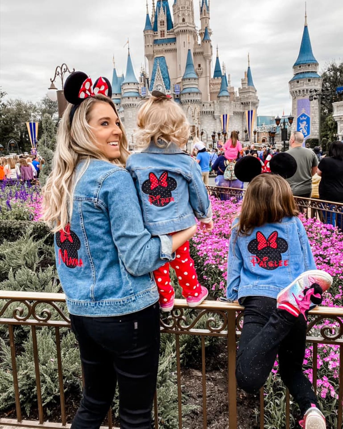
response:
<path id="1" fill-rule="evenodd" d="M 271 171 L 276 172 L 273 166 L 277 164 L 285 167 L 289 156 L 275 155 L 270 161 Z M 248 161 L 238 161 L 235 169 L 242 181 L 253 177 L 253 169 L 261 172 L 259 160 L 246 158 Z M 296 165 L 292 170 L 294 174 Z M 325 429 L 325 418 L 302 364 L 306 311 L 312 302 L 321 302 L 322 292 L 330 287 L 332 278 L 316 270 L 297 215 L 291 188 L 284 178 L 274 174 L 253 178 L 241 214 L 233 222 L 229 245 L 226 296 L 244 305 L 236 378 L 239 387 L 256 393 L 278 355 L 280 376 L 304 416 L 301 426 Z"/>

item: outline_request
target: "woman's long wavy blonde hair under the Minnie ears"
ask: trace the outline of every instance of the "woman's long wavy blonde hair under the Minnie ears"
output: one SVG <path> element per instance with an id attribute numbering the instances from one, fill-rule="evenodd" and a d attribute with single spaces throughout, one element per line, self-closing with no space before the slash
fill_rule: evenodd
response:
<path id="1" fill-rule="evenodd" d="M 54 233 L 64 228 L 72 218 L 72 204 L 70 202 L 73 198 L 75 184 L 87 169 L 90 159 L 95 158 L 125 167 L 126 159 L 129 156 L 126 135 L 121 122 L 120 130 L 123 135 L 120 141 L 119 158 L 109 161 L 96 146 L 92 127 L 88 122 L 92 109 L 99 101 L 108 103 L 118 116 L 112 100 L 99 94 L 87 98 L 78 106 L 72 124 L 70 124 L 70 111 L 73 105 L 68 104 L 60 121 L 52 171 L 43 188 L 42 219 Z M 75 177 L 75 167 L 80 160 L 84 159 L 86 160 L 84 168 L 78 177 Z"/>

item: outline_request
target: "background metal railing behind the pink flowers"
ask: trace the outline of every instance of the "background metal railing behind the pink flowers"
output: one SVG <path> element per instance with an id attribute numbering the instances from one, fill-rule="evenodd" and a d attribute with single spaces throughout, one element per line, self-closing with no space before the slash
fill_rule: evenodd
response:
<path id="1" fill-rule="evenodd" d="M 245 189 L 206 186 L 208 193 L 218 199 L 234 199 L 240 201 Z M 319 198 L 294 197 L 299 211 L 307 218 L 318 218 L 326 224 L 333 224 L 343 229 L 343 202 L 325 201 Z"/>

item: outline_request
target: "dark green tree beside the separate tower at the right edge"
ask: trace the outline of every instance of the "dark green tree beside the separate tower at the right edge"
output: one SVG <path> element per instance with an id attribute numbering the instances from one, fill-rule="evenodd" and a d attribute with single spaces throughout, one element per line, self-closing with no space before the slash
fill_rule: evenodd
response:
<path id="1" fill-rule="evenodd" d="M 332 117 L 332 103 L 337 101 L 336 88 L 343 86 L 343 62 L 337 64 L 335 60 L 327 63 L 322 72 L 322 93 L 328 94 L 322 97 L 321 108 L 321 137 L 333 141 L 337 136 L 337 123 Z"/>

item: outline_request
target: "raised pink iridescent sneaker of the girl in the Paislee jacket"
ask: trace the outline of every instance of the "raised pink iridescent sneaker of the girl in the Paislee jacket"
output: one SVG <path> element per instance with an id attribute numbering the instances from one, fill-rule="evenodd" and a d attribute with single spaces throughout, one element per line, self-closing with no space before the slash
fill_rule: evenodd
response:
<path id="1" fill-rule="evenodd" d="M 315 284 L 316 286 L 312 287 Z M 327 272 L 319 269 L 305 271 L 277 295 L 277 308 L 286 310 L 296 317 L 301 313 L 306 320 L 305 311 L 313 306 L 311 296 L 320 299 L 321 294 L 328 290 L 331 284 L 332 277 Z M 321 293 L 318 293 L 317 289 Z"/>

